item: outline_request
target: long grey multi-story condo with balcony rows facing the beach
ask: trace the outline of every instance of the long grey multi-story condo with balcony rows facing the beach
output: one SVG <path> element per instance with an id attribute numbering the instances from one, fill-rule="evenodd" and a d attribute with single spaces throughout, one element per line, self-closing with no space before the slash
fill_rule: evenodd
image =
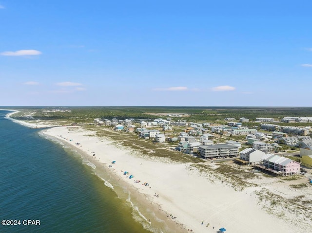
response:
<path id="1" fill-rule="evenodd" d="M 198 152 L 205 159 L 218 156 L 237 156 L 238 146 L 229 144 L 201 145 L 198 146 Z"/>

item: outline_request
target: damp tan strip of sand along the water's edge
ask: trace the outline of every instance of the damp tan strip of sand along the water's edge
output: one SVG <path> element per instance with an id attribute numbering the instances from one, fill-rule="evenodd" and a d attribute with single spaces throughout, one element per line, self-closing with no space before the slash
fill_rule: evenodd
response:
<path id="1" fill-rule="evenodd" d="M 64 127 L 77 128 L 77 126 L 59 126 L 59 128 Z M 152 200 L 146 193 L 140 192 L 140 189 L 141 191 L 144 189 L 147 190 L 150 188 L 150 186 L 143 185 L 143 181 L 135 183 L 136 178 L 129 179 L 129 175 L 123 175 L 123 170 L 117 170 L 117 164 L 112 164 L 110 161 L 100 161 L 101 158 L 98 158 L 98 156 L 93 157 L 93 154 L 96 152 L 96 150 L 91 151 L 90 149 L 82 149 L 82 144 L 85 143 L 76 145 L 74 140 L 66 140 L 66 138 L 61 135 L 55 135 L 54 133 L 51 133 L 51 130 L 53 131 L 55 128 L 43 129 L 40 132 L 43 136 L 47 136 L 48 140 L 51 140 L 51 137 L 53 141 L 56 141 L 57 143 L 64 143 L 71 150 L 75 152 L 78 151 L 77 153 L 85 162 L 84 164 L 93 168 L 95 175 L 99 179 L 103 180 L 104 185 L 114 190 L 118 198 L 127 201 L 132 206 L 133 211 L 137 212 L 137 215 L 140 215 L 141 219 L 139 222 L 146 230 L 157 233 L 187 232 L 181 223 L 177 223 L 167 216 L 166 212 L 162 210 L 159 203 L 154 202 L 154 200 Z M 80 142 L 82 141 L 80 140 Z M 108 142 L 107 144 L 111 143 L 112 142 Z M 124 152 L 129 153 L 130 151 Z M 145 160 L 141 159 L 141 161 Z M 117 163 L 119 162 L 117 161 Z M 109 165 L 112 165 L 112 168 L 109 168 Z M 159 231 L 159 229 L 161 229 L 161 231 Z"/>

